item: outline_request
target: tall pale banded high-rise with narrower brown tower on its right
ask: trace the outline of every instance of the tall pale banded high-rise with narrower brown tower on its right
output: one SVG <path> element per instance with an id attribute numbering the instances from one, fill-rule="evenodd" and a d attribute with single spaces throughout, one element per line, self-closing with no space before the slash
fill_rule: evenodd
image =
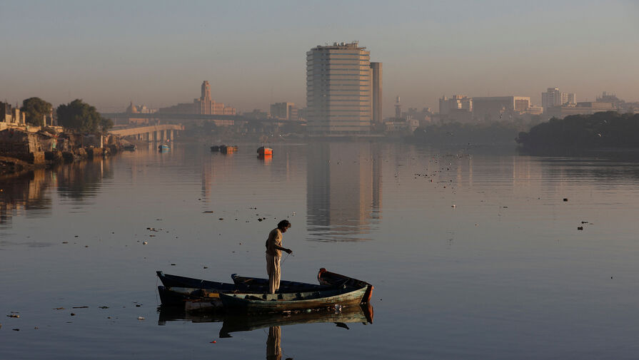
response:
<path id="1" fill-rule="evenodd" d="M 371 53 L 357 41 L 316 46 L 306 53 L 309 133 L 356 135 L 370 132 L 373 113 L 381 111 L 381 63 L 371 66 L 370 56 Z M 377 81 L 374 81 L 375 75 Z M 377 88 L 373 89 L 373 86 Z M 374 93 L 378 94 L 376 99 Z M 381 113 L 378 118 L 381 119 Z"/>

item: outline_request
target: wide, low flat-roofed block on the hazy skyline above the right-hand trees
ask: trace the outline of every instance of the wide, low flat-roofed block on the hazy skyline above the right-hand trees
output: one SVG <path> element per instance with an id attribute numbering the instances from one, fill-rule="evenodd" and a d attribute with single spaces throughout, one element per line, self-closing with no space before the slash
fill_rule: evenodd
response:
<path id="1" fill-rule="evenodd" d="M 520 115 L 530 109 L 528 96 L 491 96 L 473 98 L 473 118 L 483 120 L 502 120 L 503 115 Z"/>

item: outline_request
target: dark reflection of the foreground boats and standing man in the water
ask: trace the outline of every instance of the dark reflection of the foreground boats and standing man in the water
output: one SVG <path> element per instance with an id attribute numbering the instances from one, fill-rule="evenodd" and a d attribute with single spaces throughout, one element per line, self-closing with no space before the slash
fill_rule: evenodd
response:
<path id="1" fill-rule="evenodd" d="M 184 307 L 159 307 L 158 324 L 173 321 L 222 322 L 220 338 L 232 337 L 231 333 L 253 331 L 268 327 L 266 359 L 281 359 L 281 326 L 328 323 L 341 329 L 350 329 L 348 324 L 373 324 L 373 307 L 363 304 L 355 307 L 319 309 L 311 312 L 288 312 L 279 314 L 224 314 L 222 312 L 187 312 Z M 351 325 L 352 326 L 352 325 Z"/>

